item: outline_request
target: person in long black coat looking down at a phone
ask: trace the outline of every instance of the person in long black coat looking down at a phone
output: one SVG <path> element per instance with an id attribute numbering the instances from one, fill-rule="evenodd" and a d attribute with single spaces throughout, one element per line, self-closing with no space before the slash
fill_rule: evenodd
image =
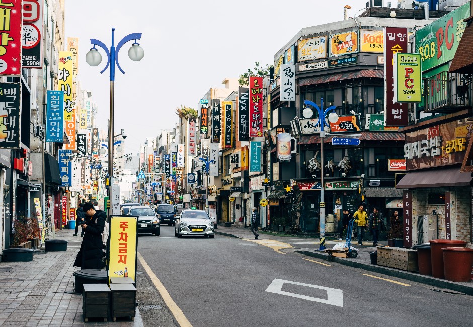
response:
<path id="1" fill-rule="evenodd" d="M 86 214 L 85 223 L 82 224 L 84 239 L 77 258 L 75 258 L 74 266 L 81 267 L 81 269 L 101 269 L 105 266 L 102 233 L 107 216 L 101 210 L 96 211 L 91 202 L 84 203 L 82 209 Z"/>

